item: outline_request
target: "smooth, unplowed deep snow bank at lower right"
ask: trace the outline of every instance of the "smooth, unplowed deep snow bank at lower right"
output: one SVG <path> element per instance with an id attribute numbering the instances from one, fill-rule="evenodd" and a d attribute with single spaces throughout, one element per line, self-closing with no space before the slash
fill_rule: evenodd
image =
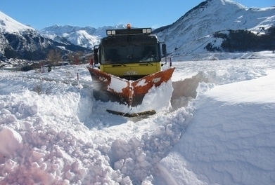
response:
<path id="1" fill-rule="evenodd" d="M 160 161 L 167 184 L 275 183 L 274 72 L 198 95 L 186 132 Z"/>

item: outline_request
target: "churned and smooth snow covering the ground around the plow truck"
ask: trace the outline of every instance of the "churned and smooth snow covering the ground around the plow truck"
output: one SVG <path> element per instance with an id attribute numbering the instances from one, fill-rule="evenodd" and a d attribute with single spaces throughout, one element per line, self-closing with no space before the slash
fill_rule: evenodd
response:
<path id="1" fill-rule="evenodd" d="M 275 184 L 275 54 L 202 58 L 147 118 L 106 113 L 85 65 L 0 71 L 0 184 Z"/>

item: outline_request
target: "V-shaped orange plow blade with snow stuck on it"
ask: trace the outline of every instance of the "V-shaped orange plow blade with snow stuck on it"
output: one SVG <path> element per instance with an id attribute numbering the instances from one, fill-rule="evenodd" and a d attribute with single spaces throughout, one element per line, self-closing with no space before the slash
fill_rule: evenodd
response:
<path id="1" fill-rule="evenodd" d="M 129 107 L 142 104 L 143 97 L 153 87 L 170 80 L 175 68 L 165 69 L 136 81 L 106 74 L 98 69 L 87 67 L 94 85 L 94 97 L 103 102 L 119 102 Z"/>

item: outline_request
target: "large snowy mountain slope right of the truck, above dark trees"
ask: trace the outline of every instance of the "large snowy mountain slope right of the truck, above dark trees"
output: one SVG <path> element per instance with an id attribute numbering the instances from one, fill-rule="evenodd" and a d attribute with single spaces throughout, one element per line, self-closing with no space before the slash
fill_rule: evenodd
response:
<path id="1" fill-rule="evenodd" d="M 226 39 L 217 38 L 217 32 L 229 35 L 232 30 L 247 30 L 254 34 L 267 34 L 267 30 L 274 28 L 274 25 L 275 7 L 247 8 L 230 0 L 208 0 L 188 11 L 172 25 L 156 32 L 167 43 L 170 53 L 176 56 L 205 53 L 208 43 L 221 48 Z M 270 38 L 272 43 L 275 43 L 274 36 Z M 238 42 L 241 42 L 240 39 Z"/>

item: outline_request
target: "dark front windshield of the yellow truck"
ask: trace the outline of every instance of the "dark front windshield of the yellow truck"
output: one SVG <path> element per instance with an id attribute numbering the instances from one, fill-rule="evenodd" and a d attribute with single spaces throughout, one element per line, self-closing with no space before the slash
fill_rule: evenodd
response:
<path id="1" fill-rule="evenodd" d="M 120 35 L 103 38 L 101 63 L 160 62 L 160 46 L 153 35 Z"/>

